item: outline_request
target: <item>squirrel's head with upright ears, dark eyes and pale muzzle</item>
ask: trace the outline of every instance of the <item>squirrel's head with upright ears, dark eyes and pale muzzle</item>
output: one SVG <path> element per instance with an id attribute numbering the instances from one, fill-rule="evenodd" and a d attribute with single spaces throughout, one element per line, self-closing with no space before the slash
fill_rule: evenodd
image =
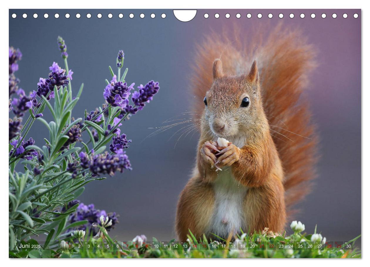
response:
<path id="1" fill-rule="evenodd" d="M 236 137 L 263 127 L 262 101 L 256 61 L 242 76 L 223 74 L 222 62 L 213 62 L 213 83 L 204 97 L 206 127 L 216 136 Z"/>

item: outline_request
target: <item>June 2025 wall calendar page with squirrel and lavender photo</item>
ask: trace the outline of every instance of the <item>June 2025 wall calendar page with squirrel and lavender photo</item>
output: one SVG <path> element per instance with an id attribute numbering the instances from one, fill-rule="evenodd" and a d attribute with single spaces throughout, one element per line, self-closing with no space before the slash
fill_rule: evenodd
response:
<path id="1" fill-rule="evenodd" d="M 8 144 L 9 258 L 360 258 L 361 10 L 9 9 Z"/>

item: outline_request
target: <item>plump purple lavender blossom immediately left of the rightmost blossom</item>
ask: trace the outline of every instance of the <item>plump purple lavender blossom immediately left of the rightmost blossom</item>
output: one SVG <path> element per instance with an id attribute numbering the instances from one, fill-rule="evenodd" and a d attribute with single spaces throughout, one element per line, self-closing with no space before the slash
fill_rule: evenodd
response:
<path id="1" fill-rule="evenodd" d="M 103 96 L 112 107 L 125 107 L 128 104 L 128 97 L 131 94 L 130 91 L 134 89 L 134 85 L 132 83 L 127 86 L 127 83 L 117 81 L 117 77 L 114 75 L 110 84 L 105 87 Z"/>

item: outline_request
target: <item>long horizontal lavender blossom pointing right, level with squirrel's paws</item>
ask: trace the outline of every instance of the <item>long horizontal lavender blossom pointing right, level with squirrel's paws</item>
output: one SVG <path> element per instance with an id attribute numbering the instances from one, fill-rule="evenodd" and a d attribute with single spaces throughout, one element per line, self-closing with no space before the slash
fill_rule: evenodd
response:
<path id="1" fill-rule="evenodd" d="M 113 176 L 116 171 L 121 173 L 124 170 L 132 170 L 128 156 L 125 154 L 122 149 L 117 150 L 117 154 L 98 154 L 87 156 L 86 153 L 81 152 L 79 154 L 81 166 L 83 168 L 89 168 L 92 177 L 98 176 L 98 174 L 109 174 Z"/>

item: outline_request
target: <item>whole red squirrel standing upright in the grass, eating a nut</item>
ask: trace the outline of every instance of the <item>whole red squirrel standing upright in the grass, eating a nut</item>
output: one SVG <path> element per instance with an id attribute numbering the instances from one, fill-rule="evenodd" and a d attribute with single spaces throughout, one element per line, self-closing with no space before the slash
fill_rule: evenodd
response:
<path id="1" fill-rule="evenodd" d="M 282 231 L 316 176 L 316 126 L 302 94 L 315 51 L 281 25 L 256 49 L 258 38 L 231 42 L 213 34 L 198 46 L 191 81 L 201 133 L 177 205 L 180 241 L 189 230 L 212 240 L 240 230 Z M 218 137 L 231 143 L 220 151 Z"/>

